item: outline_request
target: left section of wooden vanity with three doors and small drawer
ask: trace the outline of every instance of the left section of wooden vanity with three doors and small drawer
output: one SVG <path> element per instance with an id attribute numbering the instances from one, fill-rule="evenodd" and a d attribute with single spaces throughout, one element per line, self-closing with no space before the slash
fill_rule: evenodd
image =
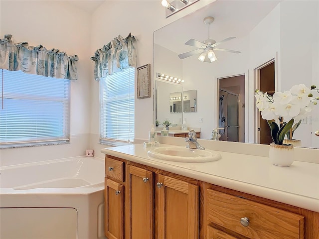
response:
<path id="1" fill-rule="evenodd" d="M 187 178 L 111 156 L 105 175 L 108 239 L 198 239 L 199 187 Z"/>

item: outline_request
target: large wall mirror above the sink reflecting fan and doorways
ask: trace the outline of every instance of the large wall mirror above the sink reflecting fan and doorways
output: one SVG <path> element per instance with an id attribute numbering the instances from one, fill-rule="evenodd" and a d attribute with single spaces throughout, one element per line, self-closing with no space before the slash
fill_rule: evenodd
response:
<path id="1" fill-rule="evenodd" d="M 210 25 L 204 23 L 207 16 L 214 17 Z M 197 49 L 185 45 L 189 39 L 204 42 L 210 38 L 220 42 L 229 37 L 236 38 L 218 47 L 240 53 L 214 51 L 217 60 L 211 63 L 198 60 L 200 53 L 184 59 L 178 57 Z M 182 78 L 184 82 L 179 91 L 197 90 L 194 113 L 172 114 L 167 107 L 169 102 L 161 111 L 157 104 L 169 100 L 169 93 L 178 91 L 171 90 L 162 100 L 158 95 L 155 119 L 178 115 L 174 122 L 180 125 L 183 118 L 187 118 L 187 126 L 200 127 L 203 139 L 210 139 L 214 128 L 224 126 L 222 134 L 229 130 L 237 136 L 232 134 L 222 140 L 263 143 L 261 134 L 270 130 L 260 125 L 263 119 L 259 119 L 255 106 L 255 89 L 266 81 L 271 82 L 266 84 L 272 87 L 270 91 L 283 92 L 301 83 L 319 87 L 319 1 L 216 0 L 209 3 L 154 32 L 154 72 Z M 154 79 L 157 86 L 156 76 Z M 314 94 L 319 93 L 314 91 Z M 301 139 L 304 147 L 319 148 L 319 137 L 315 135 L 319 130 L 318 106 L 294 133 L 294 138 Z M 236 112 L 230 112 L 231 108 Z M 233 117 L 228 119 L 228 115 Z M 232 120 L 234 116 L 237 121 Z"/>

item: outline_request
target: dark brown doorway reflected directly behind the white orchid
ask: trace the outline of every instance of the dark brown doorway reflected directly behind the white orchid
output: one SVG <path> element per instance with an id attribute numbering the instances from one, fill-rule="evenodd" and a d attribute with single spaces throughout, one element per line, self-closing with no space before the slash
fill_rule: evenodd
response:
<path id="1" fill-rule="evenodd" d="M 256 69 L 256 89 L 267 92 L 268 95 L 275 93 L 275 60 L 266 62 Z M 257 109 L 257 108 L 256 108 Z M 258 111 L 258 110 L 257 110 Z M 270 144 L 273 142 L 271 131 L 266 119 L 261 117 L 261 113 L 257 112 L 257 143 Z"/>

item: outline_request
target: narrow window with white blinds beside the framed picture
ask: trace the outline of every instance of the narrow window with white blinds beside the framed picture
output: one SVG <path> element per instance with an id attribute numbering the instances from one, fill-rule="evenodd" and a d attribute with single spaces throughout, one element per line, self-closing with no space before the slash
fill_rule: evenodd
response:
<path id="1" fill-rule="evenodd" d="M 134 140 L 135 68 L 100 80 L 100 142 Z"/>

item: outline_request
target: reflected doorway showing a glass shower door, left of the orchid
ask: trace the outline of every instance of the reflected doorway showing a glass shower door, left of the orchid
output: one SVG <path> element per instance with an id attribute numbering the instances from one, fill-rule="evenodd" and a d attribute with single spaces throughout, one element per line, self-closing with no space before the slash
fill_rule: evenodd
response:
<path id="1" fill-rule="evenodd" d="M 245 75 L 219 78 L 219 140 L 245 142 Z"/>

